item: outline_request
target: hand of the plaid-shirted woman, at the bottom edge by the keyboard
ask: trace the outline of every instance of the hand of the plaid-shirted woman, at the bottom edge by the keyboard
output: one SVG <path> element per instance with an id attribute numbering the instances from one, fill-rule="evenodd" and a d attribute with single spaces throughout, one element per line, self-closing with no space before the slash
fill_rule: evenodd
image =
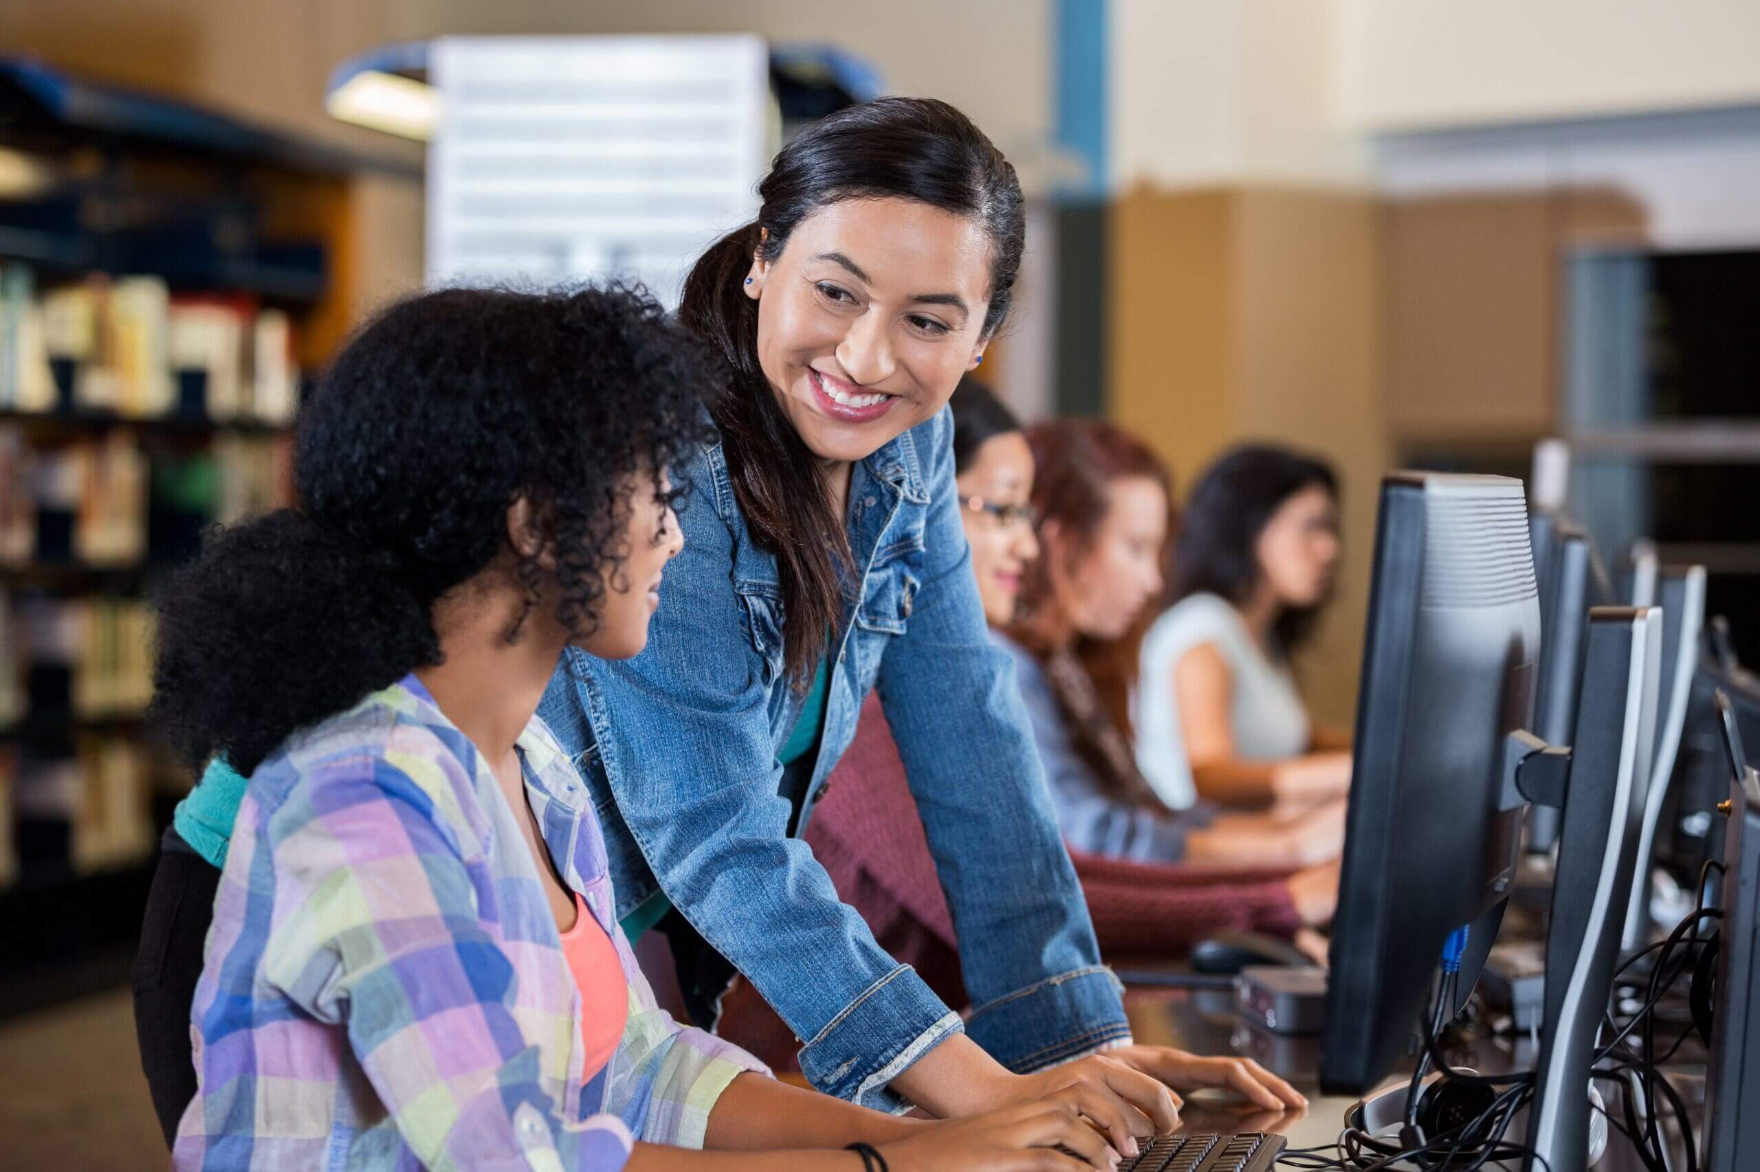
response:
<path id="1" fill-rule="evenodd" d="M 891 1172 L 1111 1172 L 1119 1163 L 1118 1151 L 1082 1119 L 1067 1093 L 947 1119 L 878 1151 Z"/>

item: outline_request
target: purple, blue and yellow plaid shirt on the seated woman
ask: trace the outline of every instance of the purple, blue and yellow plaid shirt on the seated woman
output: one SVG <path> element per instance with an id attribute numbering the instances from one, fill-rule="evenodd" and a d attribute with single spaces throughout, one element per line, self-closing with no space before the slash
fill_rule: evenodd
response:
<path id="1" fill-rule="evenodd" d="M 628 1026 L 583 1080 L 581 996 L 516 815 L 407 676 L 252 776 L 192 1038 L 178 1168 L 621 1168 L 700 1147 L 764 1066 L 655 1007 L 614 919 L 586 787 L 542 720 L 519 737 L 556 869 L 611 933 Z"/>

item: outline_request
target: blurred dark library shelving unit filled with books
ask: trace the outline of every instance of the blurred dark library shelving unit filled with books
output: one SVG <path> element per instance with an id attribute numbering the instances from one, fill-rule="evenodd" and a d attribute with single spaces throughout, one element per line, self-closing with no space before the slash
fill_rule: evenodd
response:
<path id="1" fill-rule="evenodd" d="M 370 172 L 421 179 L 0 56 L 0 1017 L 128 978 L 190 785 L 144 718 L 148 602 L 287 500 Z"/>

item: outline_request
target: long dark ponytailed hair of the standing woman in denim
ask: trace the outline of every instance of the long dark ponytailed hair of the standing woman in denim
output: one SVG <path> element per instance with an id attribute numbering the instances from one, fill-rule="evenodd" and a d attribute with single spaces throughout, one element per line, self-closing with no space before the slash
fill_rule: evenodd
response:
<path id="1" fill-rule="evenodd" d="M 774 260 L 810 215 L 843 199 L 898 197 L 972 216 L 991 241 L 982 336 L 1001 326 L 1026 248 L 1021 183 L 970 118 L 933 99 L 878 99 L 824 118 L 778 151 L 759 183 L 759 218 L 716 241 L 685 280 L 679 319 L 727 359 L 715 399 L 734 496 L 781 572 L 788 676 L 804 688 L 843 611 L 848 538 L 818 458 L 788 422 L 759 364 L 752 260 Z"/>

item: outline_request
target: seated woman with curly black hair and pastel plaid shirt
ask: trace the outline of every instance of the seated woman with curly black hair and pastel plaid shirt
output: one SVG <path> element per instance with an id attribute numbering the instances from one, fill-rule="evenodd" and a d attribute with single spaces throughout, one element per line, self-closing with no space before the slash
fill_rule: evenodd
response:
<path id="1" fill-rule="evenodd" d="M 565 648 L 646 644 L 716 378 L 641 294 L 415 297 L 306 405 L 299 509 L 174 575 L 155 716 L 250 776 L 174 1167 L 1116 1163 L 1072 1103 L 894 1119 L 655 1007 L 535 711 Z"/>

